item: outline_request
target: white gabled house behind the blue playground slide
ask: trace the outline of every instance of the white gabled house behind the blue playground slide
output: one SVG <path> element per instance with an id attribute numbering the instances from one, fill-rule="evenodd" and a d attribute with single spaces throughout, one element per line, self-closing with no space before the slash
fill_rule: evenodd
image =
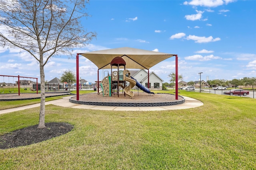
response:
<path id="1" fill-rule="evenodd" d="M 129 70 L 130 75 L 140 82 L 145 87 L 148 87 L 148 72 L 141 70 Z M 162 78 L 160 78 L 156 73 L 150 72 L 149 74 L 149 88 L 151 90 L 162 90 L 163 84 Z M 136 86 L 135 86 L 136 87 Z"/>

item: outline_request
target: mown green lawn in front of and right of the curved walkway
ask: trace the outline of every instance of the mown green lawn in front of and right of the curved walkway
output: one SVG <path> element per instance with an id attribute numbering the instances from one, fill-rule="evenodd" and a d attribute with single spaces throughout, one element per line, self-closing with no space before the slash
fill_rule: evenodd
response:
<path id="1" fill-rule="evenodd" d="M 42 143 L 1 150 L 0 169 L 256 169 L 255 99 L 179 95 L 204 105 L 168 111 L 47 105 L 46 122 L 67 122 L 74 129 Z M 39 107 L 2 114 L 0 135 L 36 125 L 38 116 Z"/>

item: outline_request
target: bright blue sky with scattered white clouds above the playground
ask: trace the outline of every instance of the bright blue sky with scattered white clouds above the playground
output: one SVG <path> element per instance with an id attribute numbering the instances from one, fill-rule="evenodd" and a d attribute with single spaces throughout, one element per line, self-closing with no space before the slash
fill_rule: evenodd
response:
<path id="1" fill-rule="evenodd" d="M 76 53 L 119 47 L 177 54 L 178 73 L 186 82 L 199 80 L 199 72 L 203 72 L 202 80 L 256 77 L 254 0 L 91 0 L 87 8 L 91 17 L 81 24 L 95 31 L 97 38 L 75 49 L 73 59 L 51 58 L 44 69 L 45 80 L 59 78 L 64 70 L 75 72 Z M 95 82 L 97 69 L 80 56 L 83 79 Z M 175 57 L 151 71 L 169 82 Z M 40 79 L 35 59 L 19 49 L 0 49 L 0 74 Z"/>

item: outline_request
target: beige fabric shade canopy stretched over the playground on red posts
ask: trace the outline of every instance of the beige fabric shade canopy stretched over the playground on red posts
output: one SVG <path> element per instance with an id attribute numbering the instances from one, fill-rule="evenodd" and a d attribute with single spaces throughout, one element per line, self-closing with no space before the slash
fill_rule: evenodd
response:
<path id="1" fill-rule="evenodd" d="M 130 47 L 91 51 L 87 53 L 80 53 L 80 55 L 92 61 L 92 63 L 94 63 L 99 69 L 111 68 L 110 63 L 112 59 L 118 56 L 122 57 L 126 62 L 126 69 L 149 69 L 157 63 L 174 56 L 174 54 L 134 49 Z"/>

